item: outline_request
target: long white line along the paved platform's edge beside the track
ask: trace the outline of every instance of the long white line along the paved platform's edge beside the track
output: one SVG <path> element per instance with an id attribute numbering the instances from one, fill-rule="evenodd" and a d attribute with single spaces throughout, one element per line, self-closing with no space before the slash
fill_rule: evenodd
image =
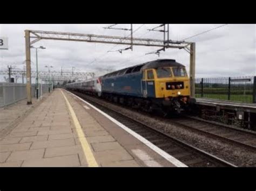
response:
<path id="1" fill-rule="evenodd" d="M 66 91 L 66 90 L 65 90 Z M 103 112 L 102 110 L 99 110 L 98 108 L 96 108 L 95 106 L 93 106 L 92 104 L 84 101 L 82 98 L 78 97 L 75 94 L 72 94 L 71 92 L 67 91 L 69 94 L 77 97 L 79 100 L 81 100 L 82 102 L 86 103 L 87 105 L 90 105 L 90 107 L 92 107 L 93 109 L 95 109 L 96 111 L 98 111 L 100 114 L 104 115 L 106 118 L 110 119 L 110 121 L 112 121 L 113 123 L 117 124 L 118 126 L 120 126 L 120 128 L 124 129 L 126 132 L 129 132 L 133 137 L 136 137 L 137 139 L 140 140 L 140 142 L 144 143 L 145 145 L 147 145 L 148 147 L 150 147 L 154 152 L 158 153 L 159 155 L 161 155 L 163 158 L 165 158 L 166 160 L 168 160 L 169 162 L 171 162 L 173 165 L 177 166 L 177 167 L 187 167 L 183 162 L 177 160 L 176 158 L 172 157 L 170 154 L 166 153 L 165 151 L 161 150 L 160 148 L 158 148 L 156 145 L 153 145 L 151 142 L 149 142 L 147 139 L 145 139 L 144 137 L 140 136 L 138 133 L 132 131 L 131 129 L 127 128 L 127 126 L 125 126 L 124 124 L 118 122 L 116 119 L 114 119 L 113 117 L 107 115 L 105 112 Z"/>

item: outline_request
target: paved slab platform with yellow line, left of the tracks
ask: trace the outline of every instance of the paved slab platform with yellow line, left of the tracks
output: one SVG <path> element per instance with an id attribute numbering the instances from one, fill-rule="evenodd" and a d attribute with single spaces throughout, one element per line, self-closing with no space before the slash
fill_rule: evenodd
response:
<path id="1" fill-rule="evenodd" d="M 38 103 L 0 145 L 1 167 L 182 166 L 64 89 Z"/>

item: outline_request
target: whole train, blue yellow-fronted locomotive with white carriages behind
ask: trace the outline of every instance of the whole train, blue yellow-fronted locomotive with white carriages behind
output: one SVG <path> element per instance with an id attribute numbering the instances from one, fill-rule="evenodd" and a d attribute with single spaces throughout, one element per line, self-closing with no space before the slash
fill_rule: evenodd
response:
<path id="1" fill-rule="evenodd" d="M 95 94 L 116 103 L 180 113 L 196 100 L 190 96 L 186 68 L 173 59 L 159 59 L 90 79 L 66 84 L 70 90 Z"/>

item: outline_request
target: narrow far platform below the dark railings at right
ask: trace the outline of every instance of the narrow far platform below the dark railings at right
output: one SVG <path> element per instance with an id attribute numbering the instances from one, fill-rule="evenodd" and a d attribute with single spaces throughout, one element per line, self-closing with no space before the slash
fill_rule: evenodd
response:
<path id="1" fill-rule="evenodd" d="M 219 107 L 219 109 L 230 109 L 230 110 L 239 110 L 245 112 L 256 113 L 256 103 L 241 103 L 241 102 L 232 102 L 226 100 L 215 100 L 211 98 L 196 98 L 198 105 L 207 105 L 212 107 Z"/>

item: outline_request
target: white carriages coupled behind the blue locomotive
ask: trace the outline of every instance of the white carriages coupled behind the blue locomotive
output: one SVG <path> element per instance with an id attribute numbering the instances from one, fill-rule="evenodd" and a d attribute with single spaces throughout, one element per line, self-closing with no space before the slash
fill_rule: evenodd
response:
<path id="1" fill-rule="evenodd" d="M 71 90 L 78 90 L 81 92 L 95 94 L 98 96 L 102 95 L 102 86 L 100 83 L 100 79 L 93 78 L 83 82 L 73 82 L 66 84 L 66 87 Z"/>

